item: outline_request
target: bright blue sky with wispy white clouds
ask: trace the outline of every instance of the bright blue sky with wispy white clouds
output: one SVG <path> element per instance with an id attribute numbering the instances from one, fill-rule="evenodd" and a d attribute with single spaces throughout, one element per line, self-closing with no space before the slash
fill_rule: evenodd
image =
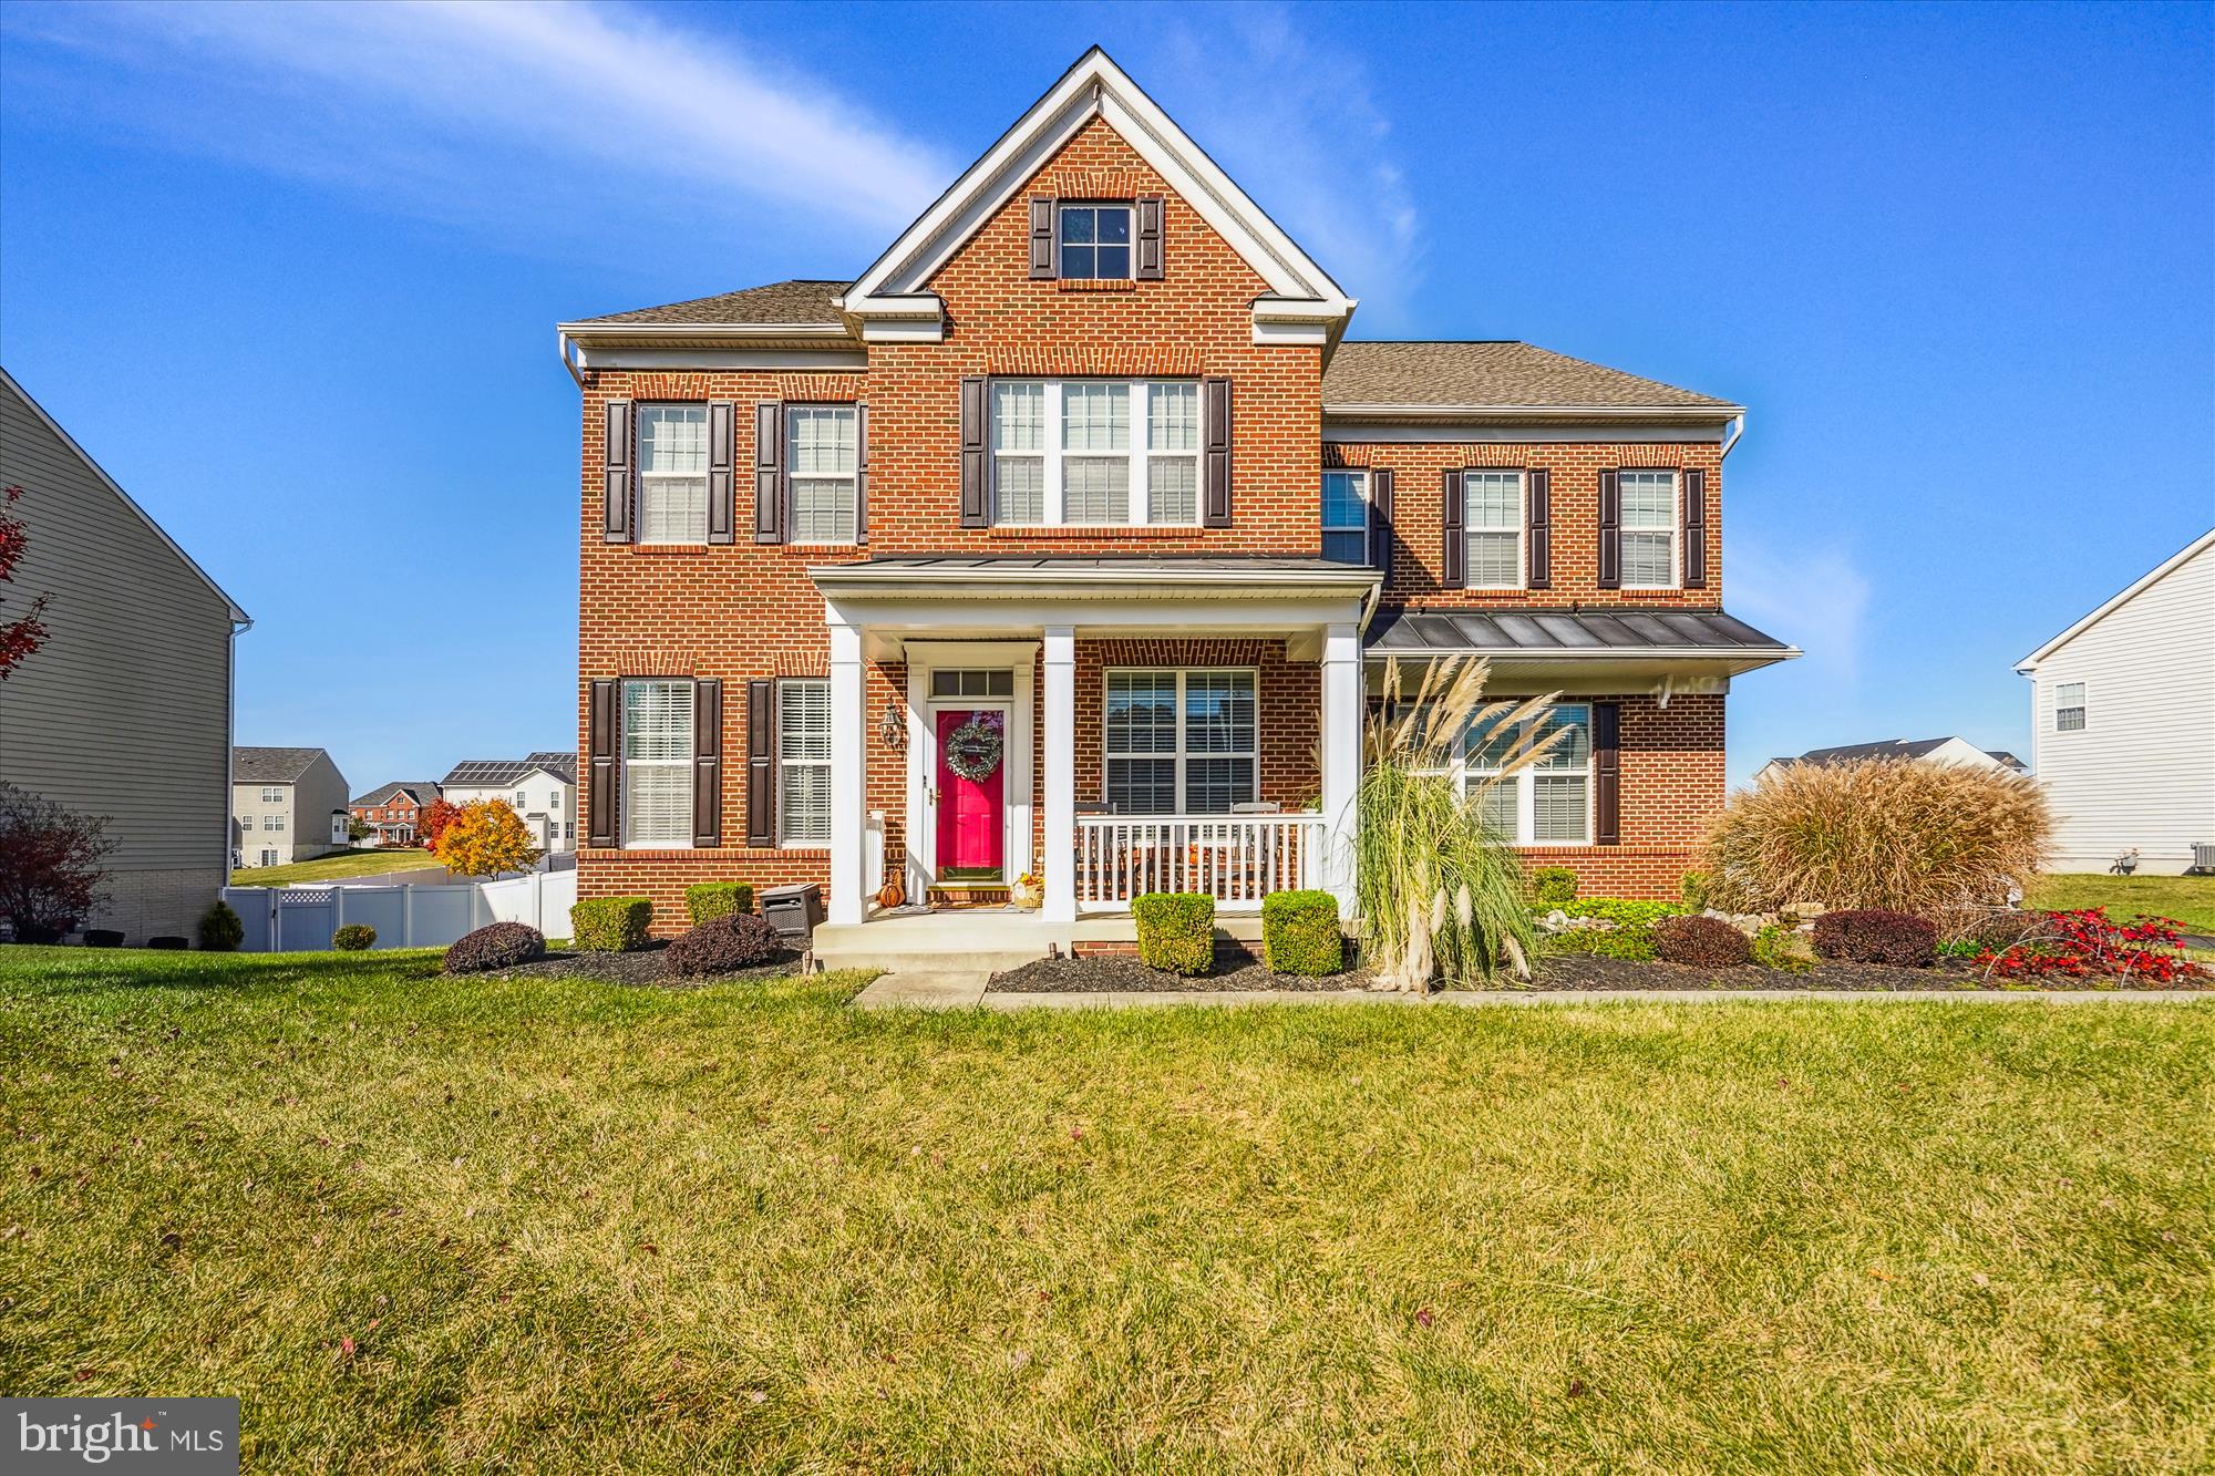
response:
<path id="1" fill-rule="evenodd" d="M 0 361 L 255 616 L 241 742 L 567 747 L 554 324 L 851 275 L 1088 44 L 1362 299 L 1752 406 L 1768 754 L 2027 751 L 2215 521 L 2215 9 L 0 9 Z"/>

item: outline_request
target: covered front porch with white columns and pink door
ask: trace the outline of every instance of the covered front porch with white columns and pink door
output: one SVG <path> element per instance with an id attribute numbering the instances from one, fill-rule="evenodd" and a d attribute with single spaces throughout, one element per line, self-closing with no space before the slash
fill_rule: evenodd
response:
<path id="1" fill-rule="evenodd" d="M 811 574 L 831 647 L 831 924 L 882 918 L 886 882 L 906 915 L 1026 875 L 1050 929 L 1145 891 L 1203 891 L 1227 915 L 1307 886 L 1351 904 L 1376 572 L 1026 556 Z"/>

